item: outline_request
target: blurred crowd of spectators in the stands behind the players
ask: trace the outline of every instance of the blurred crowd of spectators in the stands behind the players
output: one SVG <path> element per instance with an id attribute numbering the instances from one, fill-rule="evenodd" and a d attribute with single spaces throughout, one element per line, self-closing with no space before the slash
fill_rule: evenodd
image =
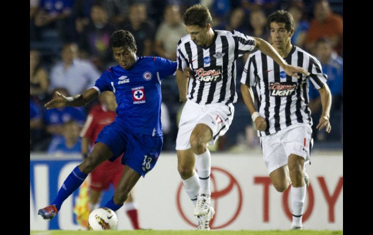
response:
<path id="1" fill-rule="evenodd" d="M 266 17 L 278 9 L 289 11 L 295 19 L 292 43 L 318 58 L 332 93 L 332 131 L 326 134 L 313 128 L 314 146 L 342 149 L 343 0 L 30 0 L 30 151 L 80 153 L 79 133 L 99 99 L 81 108 L 46 110 L 44 104 L 55 91 L 82 93 L 106 68 L 116 65 L 109 47 L 115 30 L 134 35 L 138 56 L 175 60 L 177 42 L 187 34 L 182 15 L 196 3 L 210 9 L 214 30 L 236 30 L 269 43 Z M 247 58 L 236 62 L 238 101 L 233 124 L 213 151 L 260 148 L 239 89 Z M 312 85 L 309 95 L 317 125 L 321 102 Z M 163 151 L 174 151 L 183 106 L 175 77 L 163 80 L 162 97 Z"/>

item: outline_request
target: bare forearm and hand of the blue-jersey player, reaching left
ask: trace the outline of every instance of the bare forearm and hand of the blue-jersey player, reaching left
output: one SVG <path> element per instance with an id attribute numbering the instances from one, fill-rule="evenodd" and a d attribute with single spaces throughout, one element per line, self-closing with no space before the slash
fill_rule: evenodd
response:
<path id="1" fill-rule="evenodd" d="M 85 91 L 83 94 L 77 94 L 70 97 L 66 97 L 60 94 L 59 92 L 56 92 L 56 94 L 57 97 L 53 98 L 44 105 L 44 107 L 46 107 L 47 110 L 65 106 L 80 107 L 91 102 L 94 98 L 98 96 L 98 92 L 94 88 Z"/>

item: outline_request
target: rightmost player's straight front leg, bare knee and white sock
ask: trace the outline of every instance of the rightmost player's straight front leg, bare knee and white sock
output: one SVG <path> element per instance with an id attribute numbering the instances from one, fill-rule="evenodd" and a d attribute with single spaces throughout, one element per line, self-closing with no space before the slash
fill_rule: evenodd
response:
<path id="1" fill-rule="evenodd" d="M 303 168 L 304 158 L 291 154 L 288 158 L 288 167 L 292 186 L 290 190 L 292 204 L 292 229 L 302 229 L 303 207 L 306 197 L 306 183 Z"/>

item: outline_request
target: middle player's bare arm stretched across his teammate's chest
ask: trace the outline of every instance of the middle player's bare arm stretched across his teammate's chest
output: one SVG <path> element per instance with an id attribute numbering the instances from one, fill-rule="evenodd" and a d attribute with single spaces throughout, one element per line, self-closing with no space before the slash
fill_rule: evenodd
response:
<path id="1" fill-rule="evenodd" d="M 295 78 L 300 78 L 300 76 L 297 75 L 297 73 L 301 73 L 306 76 L 310 75 L 310 73 L 304 68 L 293 66 L 293 65 L 286 63 L 286 61 L 282 59 L 282 57 L 275 50 L 275 48 L 273 48 L 269 43 L 267 43 L 263 39 L 257 38 L 257 37 L 253 37 L 253 39 L 255 41 L 255 47 L 258 48 L 260 51 L 262 51 L 267 56 L 271 57 L 276 63 L 278 63 L 284 69 L 287 75 L 295 77 Z"/>

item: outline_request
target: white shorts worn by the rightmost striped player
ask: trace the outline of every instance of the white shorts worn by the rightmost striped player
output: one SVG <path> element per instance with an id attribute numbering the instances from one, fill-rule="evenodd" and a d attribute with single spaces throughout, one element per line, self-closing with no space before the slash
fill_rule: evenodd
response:
<path id="1" fill-rule="evenodd" d="M 286 165 L 290 154 L 303 157 L 305 165 L 309 164 L 312 147 L 311 136 L 310 125 L 295 124 L 275 134 L 260 137 L 268 174 Z"/>

